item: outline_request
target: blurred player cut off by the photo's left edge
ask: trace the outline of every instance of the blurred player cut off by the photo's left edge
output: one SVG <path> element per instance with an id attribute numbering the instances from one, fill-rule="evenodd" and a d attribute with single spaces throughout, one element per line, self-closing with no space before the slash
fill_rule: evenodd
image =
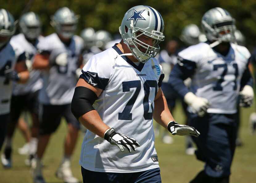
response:
<path id="1" fill-rule="evenodd" d="M 0 9 L 0 150 L 9 120 L 12 81 L 25 83 L 29 78 L 25 54 L 15 55 L 10 44 L 10 38 L 15 33 L 15 24 L 13 16 L 7 10 Z"/>

